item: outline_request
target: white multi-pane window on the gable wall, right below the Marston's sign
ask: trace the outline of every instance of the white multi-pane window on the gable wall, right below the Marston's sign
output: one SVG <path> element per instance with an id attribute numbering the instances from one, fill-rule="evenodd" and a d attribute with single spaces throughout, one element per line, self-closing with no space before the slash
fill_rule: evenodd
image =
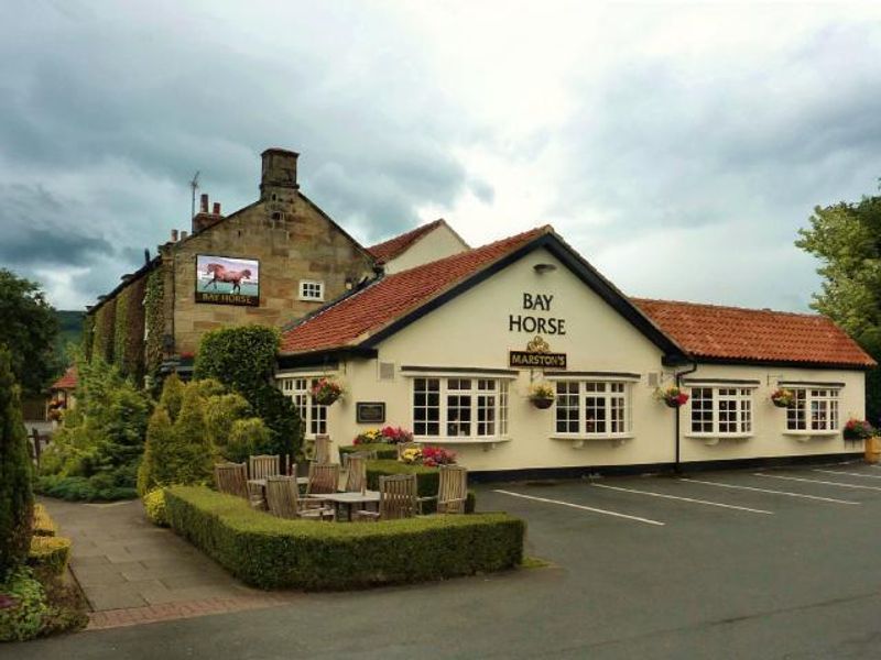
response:
<path id="1" fill-rule="evenodd" d="M 623 436 L 630 432 L 627 383 L 558 381 L 556 432 L 561 436 Z"/>

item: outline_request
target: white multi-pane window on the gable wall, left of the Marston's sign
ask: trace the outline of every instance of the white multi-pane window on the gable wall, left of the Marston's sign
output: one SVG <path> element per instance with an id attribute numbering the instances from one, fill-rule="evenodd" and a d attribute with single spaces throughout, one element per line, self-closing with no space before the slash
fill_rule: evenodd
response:
<path id="1" fill-rule="evenodd" d="M 413 378 L 415 437 L 498 438 L 507 433 L 507 381 Z"/>

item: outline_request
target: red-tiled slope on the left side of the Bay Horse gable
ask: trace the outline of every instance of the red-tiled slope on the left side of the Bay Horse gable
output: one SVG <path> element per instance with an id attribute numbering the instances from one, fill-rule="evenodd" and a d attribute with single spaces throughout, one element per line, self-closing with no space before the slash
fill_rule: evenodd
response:
<path id="1" fill-rule="evenodd" d="M 534 239 L 550 226 L 388 275 L 339 300 L 282 334 L 282 353 L 301 353 L 360 343 L 405 314 Z"/>

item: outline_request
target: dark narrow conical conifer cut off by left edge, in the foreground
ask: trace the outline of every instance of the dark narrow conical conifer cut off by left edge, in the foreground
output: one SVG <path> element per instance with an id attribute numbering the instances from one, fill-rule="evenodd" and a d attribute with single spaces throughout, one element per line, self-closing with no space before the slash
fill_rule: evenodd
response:
<path id="1" fill-rule="evenodd" d="M 0 346 L 0 582 L 31 547 L 34 495 L 11 355 Z"/>

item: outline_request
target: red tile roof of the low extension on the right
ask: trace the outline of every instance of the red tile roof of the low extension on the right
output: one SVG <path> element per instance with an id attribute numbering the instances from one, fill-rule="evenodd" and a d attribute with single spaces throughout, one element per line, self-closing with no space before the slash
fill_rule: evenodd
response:
<path id="1" fill-rule="evenodd" d="M 631 301 L 694 358 L 875 364 L 824 316 L 642 298 Z"/>

